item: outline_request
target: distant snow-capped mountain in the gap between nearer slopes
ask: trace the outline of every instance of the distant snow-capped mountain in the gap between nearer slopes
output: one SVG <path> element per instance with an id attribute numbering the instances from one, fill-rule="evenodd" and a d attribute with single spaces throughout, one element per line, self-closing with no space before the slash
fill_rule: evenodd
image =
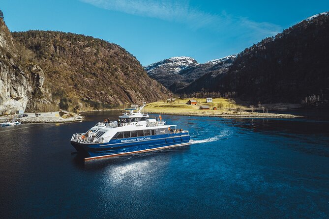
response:
<path id="1" fill-rule="evenodd" d="M 144 68 L 151 78 L 171 91 L 177 92 L 208 72 L 226 69 L 232 64 L 234 58 L 235 55 L 229 55 L 200 64 L 191 57 L 172 57 Z"/>

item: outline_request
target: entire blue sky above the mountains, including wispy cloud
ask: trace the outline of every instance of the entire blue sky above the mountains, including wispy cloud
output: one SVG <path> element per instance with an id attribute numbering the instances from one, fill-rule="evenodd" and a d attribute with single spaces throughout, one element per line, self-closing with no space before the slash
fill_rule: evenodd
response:
<path id="1" fill-rule="evenodd" d="M 11 31 L 59 30 L 119 44 L 142 65 L 172 56 L 203 63 L 241 52 L 329 0 L 1 0 Z"/>

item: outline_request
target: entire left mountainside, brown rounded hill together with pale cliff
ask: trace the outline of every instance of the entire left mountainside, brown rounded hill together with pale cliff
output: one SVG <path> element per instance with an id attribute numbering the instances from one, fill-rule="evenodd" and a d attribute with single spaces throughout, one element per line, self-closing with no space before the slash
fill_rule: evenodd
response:
<path id="1" fill-rule="evenodd" d="M 0 113 L 108 109 L 171 93 L 119 45 L 80 34 L 10 33 L 0 19 Z"/>

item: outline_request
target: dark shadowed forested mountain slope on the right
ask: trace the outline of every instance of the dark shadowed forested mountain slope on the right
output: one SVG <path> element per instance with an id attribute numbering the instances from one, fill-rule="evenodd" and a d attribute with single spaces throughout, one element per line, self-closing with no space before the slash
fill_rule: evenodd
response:
<path id="1" fill-rule="evenodd" d="M 250 102 L 329 98 L 329 12 L 312 16 L 239 53 L 225 71 L 208 72 L 180 93 L 235 91 Z M 327 101 L 328 103 L 328 101 Z"/>

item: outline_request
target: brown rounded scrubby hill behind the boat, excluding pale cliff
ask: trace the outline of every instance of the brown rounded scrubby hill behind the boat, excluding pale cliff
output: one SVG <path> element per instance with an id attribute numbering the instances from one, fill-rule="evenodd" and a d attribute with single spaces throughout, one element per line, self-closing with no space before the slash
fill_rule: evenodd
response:
<path id="1" fill-rule="evenodd" d="M 104 109 L 166 98 L 170 92 L 150 79 L 139 61 L 116 44 L 58 31 L 14 32 L 17 42 L 33 52 L 44 82 L 33 83 L 35 96 L 61 109 Z M 41 86 L 40 86 L 41 85 Z M 44 88 L 43 88 L 44 87 Z M 30 104 L 38 108 L 37 102 Z"/>

